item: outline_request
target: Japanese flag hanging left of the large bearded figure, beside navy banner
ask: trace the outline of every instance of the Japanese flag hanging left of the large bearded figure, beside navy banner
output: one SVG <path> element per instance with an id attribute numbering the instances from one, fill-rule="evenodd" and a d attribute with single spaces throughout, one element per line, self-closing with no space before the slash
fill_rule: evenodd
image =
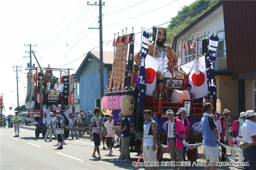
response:
<path id="1" fill-rule="evenodd" d="M 145 59 L 147 89 L 146 95 L 154 96 L 156 91 L 156 71 L 158 69 L 158 60 L 151 55 L 147 55 Z"/>

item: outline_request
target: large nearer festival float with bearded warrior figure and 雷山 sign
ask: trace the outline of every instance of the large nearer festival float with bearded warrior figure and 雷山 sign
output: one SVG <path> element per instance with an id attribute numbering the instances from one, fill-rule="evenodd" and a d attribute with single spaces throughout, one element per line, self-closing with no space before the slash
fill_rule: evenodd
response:
<path id="1" fill-rule="evenodd" d="M 114 35 L 116 36 L 116 34 Z M 141 152 L 140 147 L 145 121 L 142 115 L 144 109 L 152 111 L 152 118 L 158 124 L 158 161 L 161 161 L 164 153 L 169 153 L 167 151 L 166 134 L 166 123 L 169 121 L 166 117 L 168 109 L 172 109 L 176 114 L 179 108 L 184 107 L 186 117 L 190 123 L 189 129 L 186 130 L 188 144 L 202 142 L 200 122 L 204 113 L 203 104 L 208 94 L 208 83 L 205 54 L 200 54 L 202 50 L 198 50 L 198 34 L 197 39 L 193 41 L 193 47 L 188 42 L 181 42 L 180 46 L 182 48 L 187 49 L 187 51 L 193 48 L 193 56 L 196 53 L 196 57 L 193 57 L 191 61 L 183 60 L 183 64 L 172 48 L 164 44 L 166 40 L 166 30 L 164 28 L 157 28 L 153 32 L 152 41 L 156 41 L 157 47 L 155 43 L 148 44 L 149 31 L 142 30 L 141 49 L 138 53 L 134 53 L 135 34 L 133 28 L 131 34 L 119 36 L 118 33 L 118 37 L 115 38 L 113 41 L 114 62 L 112 71 L 109 72 L 105 96 L 101 100 L 101 111 L 104 115 L 113 115 L 115 120 L 114 129 L 118 130 L 121 127 L 121 120 L 118 117 L 119 112 L 122 111 L 123 115 L 129 117 L 132 136 L 130 152 Z M 129 53 L 127 55 L 128 45 Z M 158 89 L 156 82 L 159 79 L 164 81 L 164 90 L 166 91 L 162 91 L 162 94 L 158 93 L 158 98 L 154 99 L 154 92 Z M 187 84 L 192 85 L 193 91 L 191 90 L 191 93 L 186 90 Z M 195 96 L 192 96 L 192 92 Z M 166 98 L 167 96 L 169 97 Z M 213 105 L 212 96 L 209 96 L 207 101 L 210 101 Z M 196 161 L 197 147 L 187 146 L 186 154 L 189 161 Z"/>

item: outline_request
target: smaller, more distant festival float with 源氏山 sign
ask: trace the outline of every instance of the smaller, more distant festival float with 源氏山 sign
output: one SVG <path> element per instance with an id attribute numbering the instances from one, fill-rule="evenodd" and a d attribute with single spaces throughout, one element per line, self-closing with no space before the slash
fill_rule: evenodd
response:
<path id="1" fill-rule="evenodd" d="M 28 121 L 36 126 L 35 136 L 39 137 L 40 133 L 45 136 L 47 117 L 50 112 L 56 114 L 59 110 L 60 115 L 65 119 L 64 137 L 68 138 L 69 119 L 74 114 L 75 80 L 69 75 L 72 69 L 32 67 L 27 70 L 25 107 L 28 110 Z M 53 72 L 59 73 L 60 77 L 53 76 Z"/>

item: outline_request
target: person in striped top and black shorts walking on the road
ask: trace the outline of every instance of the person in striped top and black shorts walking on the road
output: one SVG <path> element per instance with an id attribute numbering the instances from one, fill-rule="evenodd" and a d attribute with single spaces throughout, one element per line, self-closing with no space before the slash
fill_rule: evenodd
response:
<path id="1" fill-rule="evenodd" d="M 101 159 L 100 156 L 100 134 L 101 134 L 101 126 L 104 129 L 104 133 L 106 134 L 106 128 L 104 126 L 104 121 L 100 117 L 100 108 L 95 107 L 94 110 L 94 117 L 91 119 L 91 127 L 90 127 L 90 138 L 93 137 L 94 141 L 94 151 L 92 153 L 93 158 L 97 158 L 95 155 L 96 151 L 99 154 L 98 159 Z"/>

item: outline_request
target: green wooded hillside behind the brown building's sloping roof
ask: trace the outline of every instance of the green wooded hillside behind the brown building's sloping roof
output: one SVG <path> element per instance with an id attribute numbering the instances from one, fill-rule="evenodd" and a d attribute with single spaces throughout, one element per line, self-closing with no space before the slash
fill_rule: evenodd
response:
<path id="1" fill-rule="evenodd" d="M 213 3 L 215 2 L 215 3 Z M 194 3 L 183 6 L 178 14 L 171 18 L 170 24 L 165 28 L 166 29 L 166 44 L 172 46 L 173 38 L 180 33 L 183 29 L 185 29 L 188 25 L 194 22 L 197 18 L 203 15 L 206 11 L 208 11 L 212 6 L 217 4 L 219 1 L 212 1 L 212 0 L 196 0 Z M 213 4 L 212 4 L 213 3 Z M 210 5 L 209 5 L 210 4 Z M 205 5 L 208 5 L 204 7 Z M 204 8 L 202 8 L 204 7 Z M 198 11 L 197 9 L 202 8 Z M 195 12 L 193 12 L 195 11 Z M 192 12 L 191 14 L 188 14 Z M 188 15 L 186 15 L 188 14 Z M 184 16 L 186 15 L 186 16 Z M 182 17 L 184 16 L 184 17 Z M 181 18 L 180 18 L 181 17 Z"/>

